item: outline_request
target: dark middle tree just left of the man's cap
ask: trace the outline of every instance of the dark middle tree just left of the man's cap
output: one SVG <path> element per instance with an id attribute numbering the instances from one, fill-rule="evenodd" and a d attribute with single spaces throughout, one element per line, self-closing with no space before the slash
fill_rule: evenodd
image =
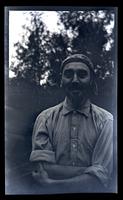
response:
<path id="1" fill-rule="evenodd" d="M 60 85 L 60 65 L 63 59 L 69 55 L 68 51 L 69 38 L 67 35 L 56 34 L 52 35 L 50 43 L 51 51 L 48 54 L 50 63 L 50 73 L 47 79 L 47 84 Z"/>

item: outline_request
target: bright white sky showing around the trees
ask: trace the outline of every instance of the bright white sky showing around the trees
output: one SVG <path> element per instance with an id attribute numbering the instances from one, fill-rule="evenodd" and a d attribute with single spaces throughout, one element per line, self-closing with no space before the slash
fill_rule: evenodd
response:
<path id="1" fill-rule="evenodd" d="M 23 35 L 23 28 L 22 26 L 26 23 L 29 24 L 29 20 L 26 18 L 29 18 L 29 12 L 30 11 L 9 11 L 9 65 L 12 60 L 12 56 L 15 55 L 15 49 L 14 44 L 18 41 L 21 41 L 22 35 Z M 46 26 L 48 27 L 49 31 L 51 32 L 58 32 L 60 28 L 58 27 L 58 15 L 55 11 L 43 11 L 42 12 L 42 20 L 45 22 Z M 103 15 L 103 14 L 102 14 Z M 100 13 L 101 16 L 101 13 Z M 110 33 L 112 27 L 114 26 L 114 21 L 107 26 L 107 31 Z M 106 49 L 108 50 L 110 48 L 110 44 L 107 43 Z M 14 72 L 9 71 L 9 77 L 14 77 Z"/>

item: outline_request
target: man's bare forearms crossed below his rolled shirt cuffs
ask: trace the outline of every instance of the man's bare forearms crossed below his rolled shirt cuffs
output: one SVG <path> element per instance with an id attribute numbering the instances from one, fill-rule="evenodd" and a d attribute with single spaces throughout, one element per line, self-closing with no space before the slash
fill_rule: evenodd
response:
<path id="1" fill-rule="evenodd" d="M 101 182 L 96 176 L 84 174 L 83 167 L 63 166 L 56 164 L 49 164 L 46 162 L 37 163 L 37 170 L 33 171 L 33 177 L 41 185 L 55 186 L 69 192 L 94 192 L 97 187 L 102 188 Z"/>

